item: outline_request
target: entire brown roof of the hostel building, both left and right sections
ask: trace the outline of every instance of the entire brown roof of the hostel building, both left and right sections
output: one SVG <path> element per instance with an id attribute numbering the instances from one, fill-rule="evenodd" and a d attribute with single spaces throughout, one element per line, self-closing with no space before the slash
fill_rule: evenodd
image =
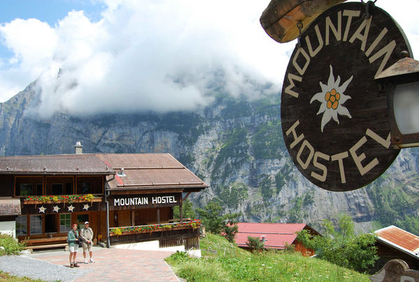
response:
<path id="1" fill-rule="evenodd" d="M 124 175 L 119 174 L 123 169 Z M 0 156 L 0 174 L 108 175 L 108 188 L 207 188 L 199 177 L 170 154 L 67 154 Z"/>

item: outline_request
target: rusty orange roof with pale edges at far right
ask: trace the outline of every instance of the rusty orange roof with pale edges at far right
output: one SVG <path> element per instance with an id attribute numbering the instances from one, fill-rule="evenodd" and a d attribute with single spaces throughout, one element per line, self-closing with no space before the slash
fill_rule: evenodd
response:
<path id="1" fill-rule="evenodd" d="M 395 225 L 376 230 L 377 240 L 399 251 L 419 258 L 419 237 Z"/>

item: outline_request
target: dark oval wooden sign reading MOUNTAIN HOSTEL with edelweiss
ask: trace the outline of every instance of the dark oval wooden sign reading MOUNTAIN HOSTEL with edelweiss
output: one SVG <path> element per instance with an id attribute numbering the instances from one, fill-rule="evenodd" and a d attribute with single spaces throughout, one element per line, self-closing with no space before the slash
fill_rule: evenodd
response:
<path id="1" fill-rule="evenodd" d="M 351 191 L 379 177 L 399 154 L 390 147 L 385 94 L 374 76 L 411 49 L 398 24 L 362 3 L 326 10 L 303 32 L 281 94 L 284 140 L 304 177 Z"/>

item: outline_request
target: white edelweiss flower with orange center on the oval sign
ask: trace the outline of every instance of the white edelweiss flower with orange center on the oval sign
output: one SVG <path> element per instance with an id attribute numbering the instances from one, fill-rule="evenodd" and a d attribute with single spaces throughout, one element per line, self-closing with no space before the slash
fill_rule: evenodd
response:
<path id="1" fill-rule="evenodd" d="M 318 109 L 317 114 L 321 114 L 323 112 L 323 117 L 321 119 L 321 132 L 323 132 L 323 128 L 326 124 L 330 121 L 330 119 L 334 119 L 337 124 L 339 124 L 339 119 L 337 114 L 345 115 L 352 118 L 351 114 L 349 113 L 348 109 L 343 106 L 343 104 L 351 98 L 351 96 L 345 95 L 344 91 L 348 84 L 351 82 L 353 75 L 346 80 L 341 86 L 340 83 L 340 76 L 337 76 L 337 80 L 335 81 L 335 76 L 333 75 L 333 68 L 330 65 L 330 75 L 328 84 L 325 85 L 319 82 L 321 87 L 321 92 L 314 94 L 314 96 L 310 100 L 310 104 L 313 103 L 314 100 L 319 101 L 320 109 Z"/>

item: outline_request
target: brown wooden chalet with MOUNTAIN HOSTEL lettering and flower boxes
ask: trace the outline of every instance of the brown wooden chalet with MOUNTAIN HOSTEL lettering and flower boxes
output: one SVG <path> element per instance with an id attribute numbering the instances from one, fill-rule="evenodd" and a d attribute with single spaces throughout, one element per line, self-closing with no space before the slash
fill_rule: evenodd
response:
<path id="1" fill-rule="evenodd" d="M 108 247 L 199 246 L 200 222 L 182 202 L 207 188 L 170 154 L 0 156 L 0 232 L 31 248 L 66 245 L 73 223 L 89 221 Z M 172 208 L 179 206 L 180 218 Z"/>

